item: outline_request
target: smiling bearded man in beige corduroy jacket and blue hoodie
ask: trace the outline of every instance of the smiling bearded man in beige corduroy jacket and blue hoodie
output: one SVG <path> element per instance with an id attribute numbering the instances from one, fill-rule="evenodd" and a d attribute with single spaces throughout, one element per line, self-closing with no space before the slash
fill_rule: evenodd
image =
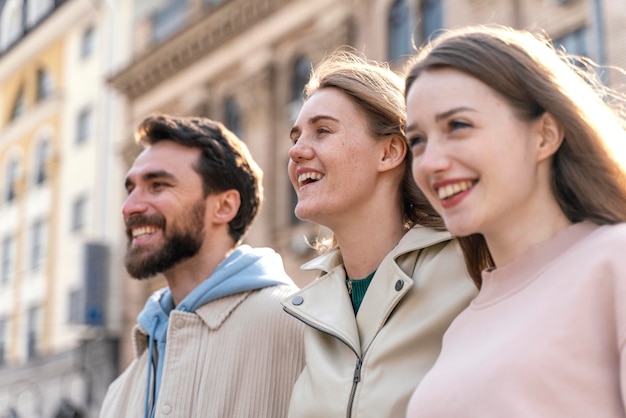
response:
<path id="1" fill-rule="evenodd" d="M 280 256 L 241 244 L 262 171 L 219 122 L 153 115 L 126 175 L 124 260 L 163 274 L 133 330 L 135 359 L 101 417 L 284 417 L 303 367 L 303 328 L 280 300 L 296 290 Z"/>

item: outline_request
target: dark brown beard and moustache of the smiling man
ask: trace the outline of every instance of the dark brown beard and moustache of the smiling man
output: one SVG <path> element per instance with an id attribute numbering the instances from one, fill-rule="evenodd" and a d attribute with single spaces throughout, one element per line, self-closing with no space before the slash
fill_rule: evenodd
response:
<path id="1" fill-rule="evenodd" d="M 204 242 L 205 206 L 204 200 L 195 203 L 188 213 L 179 217 L 183 220 L 180 226 L 172 224 L 171 232 L 166 231 L 165 219 L 160 215 L 130 218 L 126 226 L 128 248 L 124 257 L 128 273 L 136 279 L 147 279 L 198 254 Z M 133 248 L 130 232 L 133 225 L 155 225 L 161 228 L 165 240 L 163 246 L 151 252 L 141 247 Z"/>

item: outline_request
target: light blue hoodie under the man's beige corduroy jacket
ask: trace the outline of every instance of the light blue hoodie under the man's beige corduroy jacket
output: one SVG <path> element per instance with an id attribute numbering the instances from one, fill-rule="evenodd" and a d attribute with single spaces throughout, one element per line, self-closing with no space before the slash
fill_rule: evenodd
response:
<path id="1" fill-rule="evenodd" d="M 248 245 L 240 245 L 217 266 L 210 277 L 192 290 L 178 306 L 174 307 L 172 293 L 167 287 L 150 296 L 137 317 L 139 324 L 148 332 L 149 338 L 149 365 L 144 416 L 152 417 L 154 415 L 154 406 L 161 386 L 169 314 L 172 310 L 195 312 L 197 308 L 212 300 L 278 284 L 294 285 L 285 272 L 280 255 L 270 248 L 252 248 Z M 154 383 L 151 384 L 151 376 L 155 366 L 153 364 L 155 342 L 158 356 Z M 151 397 L 154 399 L 152 407 L 150 407 Z"/>

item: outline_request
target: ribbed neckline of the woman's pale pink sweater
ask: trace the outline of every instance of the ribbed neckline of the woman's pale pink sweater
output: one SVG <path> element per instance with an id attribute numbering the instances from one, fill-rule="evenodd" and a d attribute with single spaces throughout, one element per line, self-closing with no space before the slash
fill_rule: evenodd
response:
<path id="1" fill-rule="evenodd" d="M 589 221 L 575 223 L 552 238 L 530 248 L 510 263 L 482 272 L 482 286 L 472 301 L 473 309 L 482 309 L 518 293 L 534 282 L 561 255 L 594 232 L 598 225 Z"/>

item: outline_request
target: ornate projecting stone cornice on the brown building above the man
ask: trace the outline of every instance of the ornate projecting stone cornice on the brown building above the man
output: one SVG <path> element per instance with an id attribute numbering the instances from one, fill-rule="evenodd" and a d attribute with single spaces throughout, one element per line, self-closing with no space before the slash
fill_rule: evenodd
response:
<path id="1" fill-rule="evenodd" d="M 293 0 L 230 0 L 137 57 L 109 82 L 135 99 Z"/>

